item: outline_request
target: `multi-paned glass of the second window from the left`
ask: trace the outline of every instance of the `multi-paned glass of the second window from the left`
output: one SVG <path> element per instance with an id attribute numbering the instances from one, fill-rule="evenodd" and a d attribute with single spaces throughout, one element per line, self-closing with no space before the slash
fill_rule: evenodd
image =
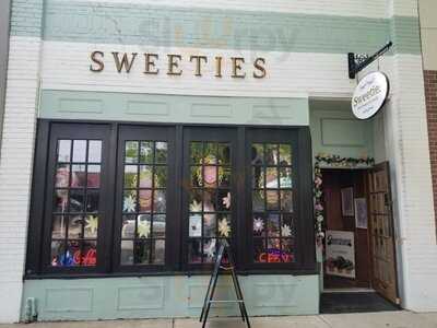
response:
<path id="1" fill-rule="evenodd" d="M 125 143 L 122 266 L 164 265 L 167 142 Z"/>

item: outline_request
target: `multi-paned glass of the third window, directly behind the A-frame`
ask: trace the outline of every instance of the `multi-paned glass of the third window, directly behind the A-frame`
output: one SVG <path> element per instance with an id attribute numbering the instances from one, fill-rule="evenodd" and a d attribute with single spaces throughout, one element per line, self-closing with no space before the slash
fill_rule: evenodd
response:
<path id="1" fill-rule="evenodd" d="M 190 143 L 190 263 L 212 262 L 220 238 L 231 231 L 231 149 L 228 143 Z"/>

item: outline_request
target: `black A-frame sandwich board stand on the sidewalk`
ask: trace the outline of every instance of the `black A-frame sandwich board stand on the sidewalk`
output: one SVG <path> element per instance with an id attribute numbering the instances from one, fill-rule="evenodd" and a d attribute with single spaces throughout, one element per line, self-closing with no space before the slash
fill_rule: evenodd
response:
<path id="1" fill-rule="evenodd" d="M 227 256 L 227 263 L 223 263 L 225 255 Z M 215 286 L 217 284 L 218 274 L 221 272 L 231 273 L 234 283 L 235 294 L 237 295 L 236 300 L 214 300 Z M 218 251 L 215 255 L 214 270 L 212 271 L 211 274 L 210 283 L 206 290 L 206 295 L 203 302 L 202 313 L 199 319 L 200 323 L 203 323 L 202 328 L 204 328 L 206 325 L 208 315 L 210 314 L 211 304 L 213 303 L 238 303 L 239 311 L 241 314 L 241 319 L 243 321 L 246 323 L 247 327 L 250 328 L 249 317 L 247 315 L 245 301 L 243 298 L 241 288 L 238 282 L 238 277 L 235 272 L 234 256 L 232 254 L 229 244 L 225 239 L 221 241 Z"/>

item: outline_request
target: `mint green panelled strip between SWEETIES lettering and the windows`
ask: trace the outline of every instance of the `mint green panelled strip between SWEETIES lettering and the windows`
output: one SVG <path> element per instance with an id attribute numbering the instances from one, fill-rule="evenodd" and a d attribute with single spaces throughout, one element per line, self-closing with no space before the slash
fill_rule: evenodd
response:
<path id="1" fill-rule="evenodd" d="M 43 90 L 40 118 L 308 126 L 308 98 L 210 97 Z"/>

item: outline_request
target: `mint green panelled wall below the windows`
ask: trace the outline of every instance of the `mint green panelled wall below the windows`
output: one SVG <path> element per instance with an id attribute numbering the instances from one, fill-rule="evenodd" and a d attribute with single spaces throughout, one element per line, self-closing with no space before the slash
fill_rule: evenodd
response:
<path id="1" fill-rule="evenodd" d="M 209 276 L 49 279 L 24 282 L 25 303 L 36 298 L 38 320 L 199 317 Z M 220 278 L 216 300 L 235 294 Z M 319 312 L 318 276 L 239 277 L 250 316 L 309 315 Z M 214 306 L 212 316 L 237 315 L 235 304 Z"/>

